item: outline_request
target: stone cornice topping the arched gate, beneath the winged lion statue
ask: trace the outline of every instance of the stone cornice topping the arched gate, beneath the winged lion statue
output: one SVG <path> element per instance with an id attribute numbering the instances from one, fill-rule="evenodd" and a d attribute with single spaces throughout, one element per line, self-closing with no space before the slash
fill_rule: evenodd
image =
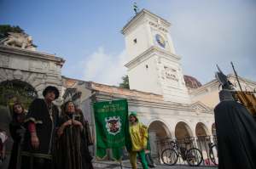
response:
<path id="1" fill-rule="evenodd" d="M 63 58 L 55 57 L 54 54 L 39 53 L 39 52 L 35 52 L 32 50 L 28 50 L 26 48 L 15 48 L 15 47 L 0 45 L 0 52 L 5 52 L 5 53 L 9 53 L 9 54 L 18 54 L 18 55 L 23 55 L 26 57 L 37 58 L 37 59 L 47 59 L 47 60 L 57 62 L 56 64 L 61 65 L 61 66 L 66 61 Z"/>

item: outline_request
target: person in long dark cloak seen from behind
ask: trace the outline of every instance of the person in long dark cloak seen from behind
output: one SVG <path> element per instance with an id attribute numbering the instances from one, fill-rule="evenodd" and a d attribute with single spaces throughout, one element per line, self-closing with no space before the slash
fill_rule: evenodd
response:
<path id="1" fill-rule="evenodd" d="M 218 168 L 256 169 L 256 123 L 247 109 L 232 100 L 229 90 L 219 92 L 214 109 L 218 139 Z"/>

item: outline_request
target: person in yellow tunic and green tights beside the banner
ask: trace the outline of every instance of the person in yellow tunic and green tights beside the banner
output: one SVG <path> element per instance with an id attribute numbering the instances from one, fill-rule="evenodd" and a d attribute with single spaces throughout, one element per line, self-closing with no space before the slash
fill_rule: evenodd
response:
<path id="1" fill-rule="evenodd" d="M 132 124 L 131 115 L 136 118 L 136 122 Z M 130 162 L 132 169 L 137 169 L 136 158 L 137 155 L 142 162 L 143 169 L 148 169 L 147 161 L 145 159 L 145 149 L 147 147 L 148 141 L 148 127 L 138 122 L 137 114 L 131 112 L 130 121 L 131 125 L 129 125 L 129 131 L 131 134 L 131 144 L 132 149 L 130 153 Z"/>

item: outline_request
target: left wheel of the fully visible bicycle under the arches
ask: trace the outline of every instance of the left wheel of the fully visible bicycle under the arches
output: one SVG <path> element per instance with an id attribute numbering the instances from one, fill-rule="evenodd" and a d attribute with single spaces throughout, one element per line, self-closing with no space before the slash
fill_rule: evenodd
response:
<path id="1" fill-rule="evenodd" d="M 174 149 L 165 149 L 162 152 L 161 159 L 166 165 L 175 165 L 177 162 L 177 153 Z"/>

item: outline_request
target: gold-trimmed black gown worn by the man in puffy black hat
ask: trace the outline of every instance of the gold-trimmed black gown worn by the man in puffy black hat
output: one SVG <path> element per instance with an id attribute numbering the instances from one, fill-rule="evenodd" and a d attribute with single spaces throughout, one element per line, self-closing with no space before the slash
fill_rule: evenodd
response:
<path id="1" fill-rule="evenodd" d="M 52 159 L 55 145 L 55 127 L 59 110 L 55 104 L 49 105 L 44 99 L 34 99 L 29 107 L 24 124 L 32 121 L 36 124 L 39 146 L 32 148 L 31 134 L 26 130 L 22 155 Z"/>

